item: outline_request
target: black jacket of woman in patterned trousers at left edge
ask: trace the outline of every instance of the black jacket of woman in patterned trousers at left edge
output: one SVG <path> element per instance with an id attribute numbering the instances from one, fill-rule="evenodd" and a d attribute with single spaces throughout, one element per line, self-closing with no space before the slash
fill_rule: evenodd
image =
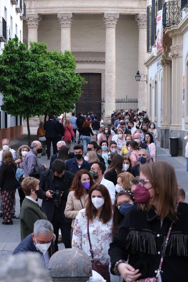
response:
<path id="1" fill-rule="evenodd" d="M 2 164 L 0 167 L 0 188 L 5 190 L 16 190 L 18 182 L 16 180 L 16 164 Z"/>

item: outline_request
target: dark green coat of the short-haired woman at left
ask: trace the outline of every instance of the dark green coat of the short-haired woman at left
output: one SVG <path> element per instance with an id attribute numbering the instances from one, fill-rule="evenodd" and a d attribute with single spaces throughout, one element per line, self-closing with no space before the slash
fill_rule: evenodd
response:
<path id="1" fill-rule="evenodd" d="M 38 219 L 46 219 L 47 217 L 43 209 L 30 199 L 25 198 L 20 213 L 20 232 L 21 240 L 33 232 L 34 223 Z"/>

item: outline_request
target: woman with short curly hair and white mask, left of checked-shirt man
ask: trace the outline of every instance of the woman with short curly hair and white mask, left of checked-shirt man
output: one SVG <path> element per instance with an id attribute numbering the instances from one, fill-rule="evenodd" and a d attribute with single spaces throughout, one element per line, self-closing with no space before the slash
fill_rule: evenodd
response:
<path id="1" fill-rule="evenodd" d="M 17 164 L 17 169 L 19 168 L 19 169 L 24 170 L 24 158 L 25 158 L 27 152 L 29 152 L 29 151 L 30 151 L 30 148 L 27 145 L 22 145 L 22 146 L 20 146 L 18 148 L 17 155 L 21 156 L 21 158 L 19 158 L 19 159 L 17 159 L 15 161 L 15 163 Z M 21 177 L 23 179 L 24 178 L 24 174 Z M 20 180 L 21 180 L 21 177 L 20 177 Z M 19 197 L 20 197 L 20 212 L 21 212 L 22 202 L 25 199 L 25 193 L 24 193 L 24 191 L 22 189 L 22 186 L 19 186 L 18 194 L 19 194 Z M 20 214 L 16 218 L 19 219 L 20 218 Z"/>

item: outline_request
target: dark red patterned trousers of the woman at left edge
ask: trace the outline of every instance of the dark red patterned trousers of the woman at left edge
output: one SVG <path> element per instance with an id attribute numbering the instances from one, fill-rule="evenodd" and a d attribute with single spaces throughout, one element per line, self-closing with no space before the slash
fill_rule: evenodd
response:
<path id="1" fill-rule="evenodd" d="M 1 199 L 3 203 L 3 221 L 4 222 L 13 221 L 12 220 L 12 210 L 13 210 L 13 202 L 14 202 L 15 193 L 16 193 L 16 189 L 1 191 Z"/>

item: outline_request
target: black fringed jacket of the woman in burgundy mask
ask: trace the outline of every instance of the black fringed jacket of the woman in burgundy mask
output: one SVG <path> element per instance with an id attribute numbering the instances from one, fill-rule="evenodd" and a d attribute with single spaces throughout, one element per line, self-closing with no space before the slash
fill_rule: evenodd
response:
<path id="1" fill-rule="evenodd" d="M 164 206 L 165 209 L 165 206 Z M 111 272 L 120 259 L 127 260 L 141 277 L 155 277 L 161 255 L 164 255 L 162 282 L 188 281 L 188 204 L 179 203 L 178 220 L 173 223 L 166 251 L 165 239 L 172 219 L 161 221 L 154 209 L 143 211 L 135 204 L 119 227 L 117 235 L 110 244 Z"/>

